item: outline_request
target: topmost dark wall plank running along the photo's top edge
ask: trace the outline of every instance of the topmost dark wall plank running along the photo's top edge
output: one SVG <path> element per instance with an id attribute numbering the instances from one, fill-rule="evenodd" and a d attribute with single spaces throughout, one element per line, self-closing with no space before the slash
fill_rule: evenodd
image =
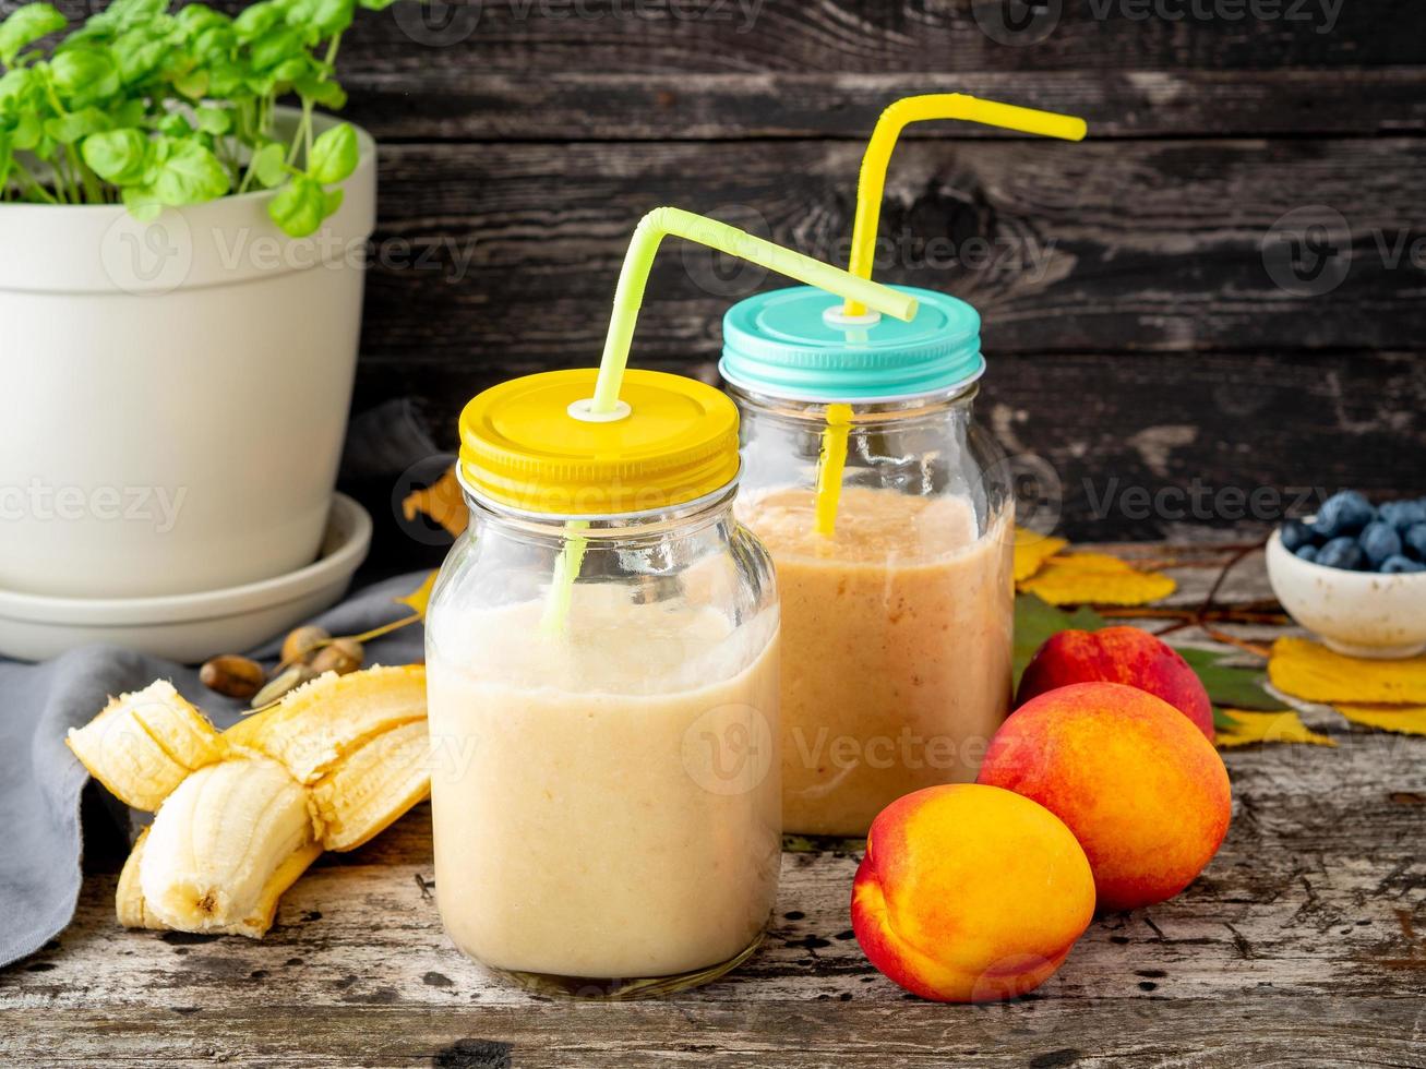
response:
<path id="1" fill-rule="evenodd" d="M 1236 6 L 1246 17 L 1233 17 L 1235 4 L 1208 0 L 1054 3 L 1061 16 L 1052 31 L 1024 46 L 1001 44 L 981 29 L 977 13 L 994 19 L 998 7 L 981 0 L 471 0 L 425 13 L 398 6 L 358 20 L 342 51 L 358 68 L 443 66 L 529 81 L 572 70 L 1259 70 L 1409 66 L 1426 57 L 1426 11 L 1412 0 L 1332 4 L 1335 19 L 1320 0 L 1283 0 L 1276 13 L 1258 6 L 1266 19 L 1248 16 L 1246 4 Z"/>

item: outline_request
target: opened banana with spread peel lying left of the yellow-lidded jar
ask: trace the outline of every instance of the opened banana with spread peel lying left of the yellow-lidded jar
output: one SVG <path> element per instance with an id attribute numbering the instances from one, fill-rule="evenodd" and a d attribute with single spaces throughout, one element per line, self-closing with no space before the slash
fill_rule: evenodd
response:
<path id="1" fill-rule="evenodd" d="M 127 928 L 261 938 L 324 849 L 359 847 L 431 792 L 422 666 L 322 676 L 222 733 L 158 681 L 67 741 L 155 814 L 120 874 Z"/>

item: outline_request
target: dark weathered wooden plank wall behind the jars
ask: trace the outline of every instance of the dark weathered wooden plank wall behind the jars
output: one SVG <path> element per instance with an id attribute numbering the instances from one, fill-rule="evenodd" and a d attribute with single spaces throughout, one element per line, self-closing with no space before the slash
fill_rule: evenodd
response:
<path id="1" fill-rule="evenodd" d="M 351 117 L 382 143 L 358 410 L 419 398 L 452 445 L 475 391 L 595 362 L 629 232 L 657 204 L 843 255 L 881 107 L 961 90 L 1079 113 L 1091 140 L 914 127 L 880 278 L 981 309 L 983 418 L 1057 472 L 1071 534 L 1172 534 L 1162 510 L 1105 507 L 1127 486 L 1228 489 L 1185 517 L 1224 525 L 1233 487 L 1426 492 L 1426 6 L 1042 7 L 1010 44 L 983 29 L 1000 0 L 365 17 L 341 57 Z M 1346 277 L 1291 292 L 1265 248 L 1281 262 L 1322 218 Z M 947 262 L 975 241 L 990 264 Z M 637 365 L 714 378 L 723 309 L 777 284 L 727 267 L 660 257 Z"/>

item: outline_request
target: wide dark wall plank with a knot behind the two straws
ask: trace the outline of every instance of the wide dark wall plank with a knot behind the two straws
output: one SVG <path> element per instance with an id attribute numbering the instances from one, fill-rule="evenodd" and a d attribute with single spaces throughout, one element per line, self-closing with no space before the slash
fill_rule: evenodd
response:
<path id="1" fill-rule="evenodd" d="M 388 147 L 368 366 L 595 362 L 629 234 L 657 204 L 843 259 L 858 162 L 857 145 L 816 141 Z M 992 353 L 1416 349 L 1426 261 L 1410 249 L 1426 231 L 1399 178 L 1423 162 L 1426 143 L 1406 138 L 908 143 L 878 277 L 971 301 Z M 1309 205 L 1350 225 L 1349 274 L 1315 298 L 1279 288 L 1263 259 L 1275 225 Z M 714 356 L 723 311 L 764 284 L 670 242 L 635 359 Z"/>

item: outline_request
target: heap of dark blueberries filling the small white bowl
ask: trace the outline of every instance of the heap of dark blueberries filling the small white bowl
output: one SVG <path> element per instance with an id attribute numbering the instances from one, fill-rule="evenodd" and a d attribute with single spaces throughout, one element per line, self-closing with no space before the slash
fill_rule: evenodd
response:
<path id="1" fill-rule="evenodd" d="M 1346 572 L 1426 572 L 1426 497 L 1373 507 L 1356 490 L 1335 493 L 1316 520 L 1285 520 L 1282 547 L 1299 560 Z"/>

